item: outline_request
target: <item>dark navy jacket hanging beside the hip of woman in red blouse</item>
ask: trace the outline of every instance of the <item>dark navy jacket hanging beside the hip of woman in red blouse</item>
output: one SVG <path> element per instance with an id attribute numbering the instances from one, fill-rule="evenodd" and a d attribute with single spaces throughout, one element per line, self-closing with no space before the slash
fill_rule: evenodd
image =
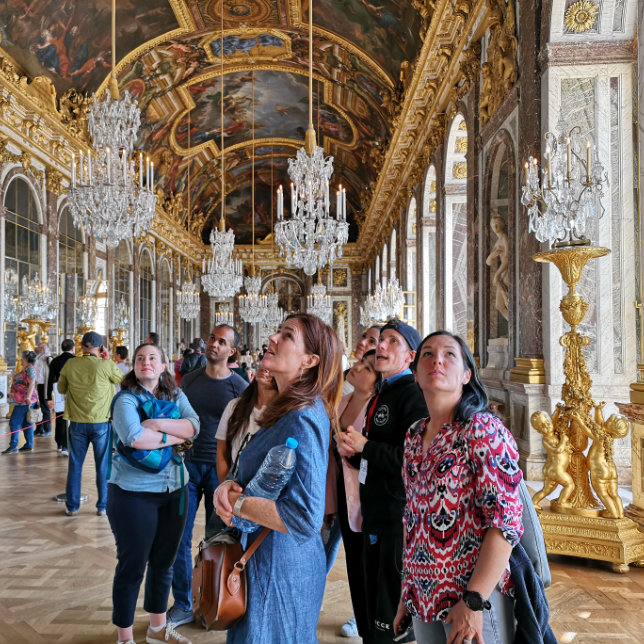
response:
<path id="1" fill-rule="evenodd" d="M 510 555 L 514 583 L 514 644 L 557 644 L 548 619 L 550 607 L 541 577 L 536 573 L 523 546 L 518 543 Z"/>

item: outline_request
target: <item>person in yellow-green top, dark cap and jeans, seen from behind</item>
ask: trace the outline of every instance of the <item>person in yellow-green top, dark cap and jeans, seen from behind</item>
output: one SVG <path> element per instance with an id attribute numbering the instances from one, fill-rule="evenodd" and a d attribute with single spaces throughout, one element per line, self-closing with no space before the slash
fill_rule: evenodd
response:
<path id="1" fill-rule="evenodd" d="M 110 405 L 114 385 L 123 372 L 112 360 L 102 360 L 103 338 L 88 331 L 81 340 L 82 355 L 65 363 L 58 378 L 58 391 L 65 394 L 65 420 L 69 421 L 69 467 L 65 490 L 65 514 L 78 514 L 83 462 L 87 448 L 94 448 L 96 464 L 96 514 L 105 516 L 107 466 L 110 449 Z"/>

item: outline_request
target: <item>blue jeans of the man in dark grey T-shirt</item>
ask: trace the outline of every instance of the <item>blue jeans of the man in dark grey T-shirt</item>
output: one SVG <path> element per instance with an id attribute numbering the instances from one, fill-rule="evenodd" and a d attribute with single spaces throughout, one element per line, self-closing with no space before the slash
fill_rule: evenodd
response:
<path id="1" fill-rule="evenodd" d="M 219 479 L 215 465 L 186 461 L 186 468 L 190 474 L 186 527 L 183 530 L 172 571 L 172 595 L 175 606 L 181 610 L 192 610 L 192 530 L 201 497 L 205 497 L 206 525 L 214 513 L 213 495 L 219 485 Z"/>

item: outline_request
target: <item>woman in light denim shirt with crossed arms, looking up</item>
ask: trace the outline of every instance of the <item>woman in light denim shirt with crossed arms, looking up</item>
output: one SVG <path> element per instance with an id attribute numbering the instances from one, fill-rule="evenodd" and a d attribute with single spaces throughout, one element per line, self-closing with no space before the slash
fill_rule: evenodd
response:
<path id="1" fill-rule="evenodd" d="M 152 450 L 182 445 L 199 433 L 199 418 L 185 394 L 177 389 L 167 365 L 160 347 L 143 344 L 136 348 L 133 370 L 121 382 L 123 390 L 136 395 L 121 392 L 113 403 L 114 438 L 123 445 Z M 173 401 L 181 417 L 141 421 L 140 399 L 147 402 L 155 398 Z M 107 516 L 118 559 L 112 588 L 112 621 L 118 628 L 119 644 L 134 644 L 134 611 L 146 566 L 143 606 L 150 614 L 146 642 L 190 644 L 166 625 L 172 564 L 186 522 L 181 501 L 185 499 L 183 487 L 187 482 L 188 474 L 179 458 L 171 459 L 158 472 L 150 472 L 130 465 L 118 450 L 114 452 Z"/>

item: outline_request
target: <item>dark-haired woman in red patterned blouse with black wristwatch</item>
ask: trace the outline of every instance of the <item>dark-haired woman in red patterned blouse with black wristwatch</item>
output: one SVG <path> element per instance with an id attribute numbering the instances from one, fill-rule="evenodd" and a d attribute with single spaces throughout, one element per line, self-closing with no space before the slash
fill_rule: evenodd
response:
<path id="1" fill-rule="evenodd" d="M 490 413 L 465 342 L 421 342 L 416 380 L 429 416 L 405 440 L 402 596 L 394 630 L 413 618 L 421 643 L 514 639 L 508 561 L 523 532 L 514 439 Z"/>

